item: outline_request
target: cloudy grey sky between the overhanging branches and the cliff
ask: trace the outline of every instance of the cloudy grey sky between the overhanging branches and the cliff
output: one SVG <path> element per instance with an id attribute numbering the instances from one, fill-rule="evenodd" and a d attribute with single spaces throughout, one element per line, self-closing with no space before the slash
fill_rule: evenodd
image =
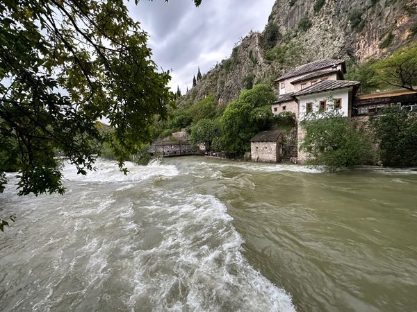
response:
<path id="1" fill-rule="evenodd" d="M 275 0 L 141 0 L 128 3 L 130 15 L 149 34 L 153 60 L 172 69 L 170 87 L 184 93 L 202 74 L 231 54 L 234 44 L 251 30 L 262 31 Z"/>

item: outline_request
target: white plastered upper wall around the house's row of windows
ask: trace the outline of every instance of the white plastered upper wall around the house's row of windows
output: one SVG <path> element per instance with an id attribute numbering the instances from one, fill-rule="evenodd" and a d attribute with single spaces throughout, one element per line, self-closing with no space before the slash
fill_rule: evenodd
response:
<path id="1" fill-rule="evenodd" d="M 322 92 L 319 94 L 297 96 L 299 99 L 300 120 L 304 119 L 304 116 L 306 115 L 306 103 L 313 103 L 313 112 L 318 112 L 319 102 L 327 101 L 327 110 L 332 110 L 334 98 L 342 99 L 341 113 L 343 116 L 350 116 L 350 101 L 352 101 L 350 98 L 351 92 L 352 88 L 347 88 L 330 92 Z"/>

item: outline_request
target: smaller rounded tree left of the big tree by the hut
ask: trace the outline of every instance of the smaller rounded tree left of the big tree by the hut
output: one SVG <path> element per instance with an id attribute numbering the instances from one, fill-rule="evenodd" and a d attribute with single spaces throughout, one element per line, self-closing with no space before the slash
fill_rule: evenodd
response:
<path id="1" fill-rule="evenodd" d="M 221 125 L 218 119 L 202 119 L 191 128 L 190 144 L 196 147 L 204 144 L 206 151 L 211 150 L 211 143 L 216 137 L 220 137 Z"/>

